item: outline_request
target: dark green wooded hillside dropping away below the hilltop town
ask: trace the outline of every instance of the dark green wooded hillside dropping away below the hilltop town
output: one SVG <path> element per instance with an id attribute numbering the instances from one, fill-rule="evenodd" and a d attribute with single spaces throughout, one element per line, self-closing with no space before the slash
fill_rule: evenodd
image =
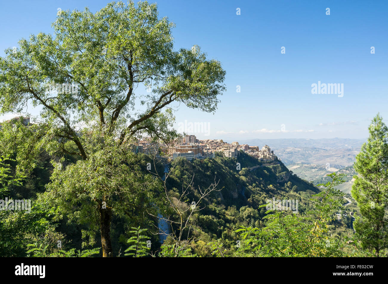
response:
<path id="1" fill-rule="evenodd" d="M 237 162 L 241 164 L 241 170 L 236 170 Z M 244 153 L 237 158 L 217 156 L 192 162 L 184 159 L 172 162 L 167 186 L 173 189 L 177 199 L 182 194 L 182 188 L 190 184 L 194 175 L 186 204 L 199 196 L 198 187 L 207 188 L 214 180 L 219 181 L 217 188 L 221 189 L 213 191 L 205 200 L 205 208 L 193 216 L 190 237 L 201 239 L 204 243 L 222 238 L 233 247 L 233 243 L 236 243 L 235 230 L 239 226 L 262 226 L 266 209 L 258 207 L 266 204 L 266 200 L 298 200 L 299 212 L 309 208 L 308 197 L 319 189 L 312 183 L 291 175 L 282 162 L 272 164 L 260 162 Z M 259 167 L 249 170 L 256 165 Z M 204 244 L 201 241 L 199 244 Z M 205 256 L 208 251 L 198 248 L 199 244 L 193 249 Z"/>

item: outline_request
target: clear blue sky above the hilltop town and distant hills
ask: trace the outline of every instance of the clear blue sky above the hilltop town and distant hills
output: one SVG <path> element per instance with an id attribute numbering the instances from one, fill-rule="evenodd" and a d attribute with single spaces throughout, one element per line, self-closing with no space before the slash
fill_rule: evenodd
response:
<path id="1" fill-rule="evenodd" d="M 156 2 L 177 25 L 175 48 L 199 45 L 227 72 L 214 115 L 182 105 L 176 112 L 177 125 L 209 126 L 198 138 L 365 138 L 374 115 L 388 119 L 388 1 Z M 106 3 L 2 1 L 0 56 L 22 37 L 52 33 L 58 8 Z M 343 84 L 343 96 L 312 94 L 318 81 Z"/>

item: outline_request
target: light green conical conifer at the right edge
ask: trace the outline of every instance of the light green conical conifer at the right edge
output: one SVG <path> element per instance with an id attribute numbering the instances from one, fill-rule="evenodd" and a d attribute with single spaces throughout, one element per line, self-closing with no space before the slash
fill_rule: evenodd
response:
<path id="1" fill-rule="evenodd" d="M 361 215 L 356 217 L 354 228 L 362 236 L 362 247 L 379 256 L 388 246 L 388 128 L 377 114 L 368 129 L 368 141 L 354 164 L 358 175 L 354 176 L 352 196 Z"/>

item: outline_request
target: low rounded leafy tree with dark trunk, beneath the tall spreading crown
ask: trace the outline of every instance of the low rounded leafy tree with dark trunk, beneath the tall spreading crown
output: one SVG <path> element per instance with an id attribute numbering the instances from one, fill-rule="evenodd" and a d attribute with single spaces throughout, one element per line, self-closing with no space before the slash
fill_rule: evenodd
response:
<path id="1" fill-rule="evenodd" d="M 113 217 L 127 218 L 134 224 L 141 222 L 144 212 L 156 214 L 157 208 L 163 208 L 158 197 L 161 184 L 142 171 L 134 153 L 117 145 L 90 154 L 87 160 L 64 170 L 55 169 L 51 179 L 38 202 L 49 212 L 54 210 L 58 219 L 66 215 L 68 222 L 87 225 L 83 237 L 88 241 L 83 246 L 94 245 L 95 234 L 100 231 L 104 257 L 113 256 Z"/>

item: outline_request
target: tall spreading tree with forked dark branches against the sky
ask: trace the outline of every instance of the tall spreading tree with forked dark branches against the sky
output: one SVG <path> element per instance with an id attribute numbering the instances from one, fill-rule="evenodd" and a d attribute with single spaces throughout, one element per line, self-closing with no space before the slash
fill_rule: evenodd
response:
<path id="1" fill-rule="evenodd" d="M 30 104 L 42 109 L 37 124 L 0 137 L 1 151 L 16 152 L 20 172 L 31 170 L 33 158 L 42 151 L 83 160 L 63 173 L 57 171 L 50 193 L 42 198 L 64 210 L 75 203 L 64 193 L 73 194 L 72 198 L 81 195 L 89 206 L 82 209 L 84 213 L 86 208 L 97 210 L 93 202 L 107 202 L 105 213 L 99 212 L 99 229 L 106 241 L 103 256 L 111 256 L 109 210 L 114 205 L 109 201 L 120 194 L 116 188 L 101 188 L 116 183 L 95 177 L 95 183 L 88 184 L 88 177 L 77 170 L 95 169 L 85 161 L 96 157 L 95 153 L 101 157 L 99 151 L 112 144 L 127 150 L 144 134 L 165 142 L 176 139 L 171 106 L 182 103 L 214 112 L 217 96 L 225 91 L 225 71 L 217 60 L 208 60 L 199 46 L 175 51 L 174 24 L 166 17 L 158 18 L 156 4 L 112 2 L 95 14 L 88 8 L 61 11 L 52 27 L 54 36 L 39 33 L 22 39 L 16 50 L 9 48 L 6 57 L 0 58 L 0 114 L 21 112 Z M 147 93 L 139 86 L 147 88 Z M 76 179 L 86 184 L 72 183 L 74 176 L 69 173 L 80 174 Z M 57 191 L 63 188 L 56 179 L 73 188 Z M 83 195 L 83 186 L 90 195 Z M 91 216 L 80 216 L 92 221 Z"/>

